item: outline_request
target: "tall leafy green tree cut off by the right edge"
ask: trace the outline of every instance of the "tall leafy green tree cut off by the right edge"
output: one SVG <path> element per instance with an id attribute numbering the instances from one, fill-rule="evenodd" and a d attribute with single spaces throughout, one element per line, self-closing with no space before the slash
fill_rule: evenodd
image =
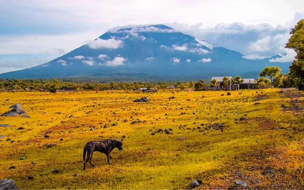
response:
<path id="1" fill-rule="evenodd" d="M 296 53 L 295 60 L 289 66 L 289 74 L 295 87 L 304 90 L 304 19 L 301 19 L 289 33 L 291 36 L 285 48 Z"/>

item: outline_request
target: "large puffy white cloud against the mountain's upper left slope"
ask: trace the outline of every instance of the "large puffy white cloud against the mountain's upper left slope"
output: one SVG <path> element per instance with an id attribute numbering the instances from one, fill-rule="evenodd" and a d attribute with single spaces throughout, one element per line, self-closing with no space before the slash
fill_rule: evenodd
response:
<path id="1" fill-rule="evenodd" d="M 93 42 L 89 43 L 88 46 L 91 49 L 118 49 L 123 46 L 122 40 L 116 40 L 115 37 L 111 39 L 103 40 L 103 39 L 96 39 Z"/>

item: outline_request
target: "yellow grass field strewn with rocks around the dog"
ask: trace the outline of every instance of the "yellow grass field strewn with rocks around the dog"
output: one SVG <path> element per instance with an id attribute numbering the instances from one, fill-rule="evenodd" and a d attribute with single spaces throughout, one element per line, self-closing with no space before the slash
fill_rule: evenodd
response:
<path id="1" fill-rule="evenodd" d="M 0 138 L 0 179 L 13 179 L 19 189 L 191 189 L 196 178 L 203 181 L 197 189 L 234 189 L 237 180 L 250 189 L 303 189 L 304 94 L 231 93 L 0 93 L 0 114 L 20 103 L 31 117 L 0 117 L 11 125 L 0 127 L 7 136 Z M 133 102 L 144 96 L 149 102 Z M 169 128 L 171 134 L 156 132 Z M 122 136 L 124 149 L 112 151 L 111 165 L 95 152 L 96 167 L 83 170 L 88 141 Z"/>

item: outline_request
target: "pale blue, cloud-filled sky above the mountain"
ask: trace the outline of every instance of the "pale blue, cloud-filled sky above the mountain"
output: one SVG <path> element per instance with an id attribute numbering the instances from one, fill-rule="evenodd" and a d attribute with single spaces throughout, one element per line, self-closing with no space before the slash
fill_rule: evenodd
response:
<path id="1" fill-rule="evenodd" d="M 302 0 L 0 0 L 0 73 L 49 62 L 114 27 L 165 24 L 247 59 L 282 55 Z"/>

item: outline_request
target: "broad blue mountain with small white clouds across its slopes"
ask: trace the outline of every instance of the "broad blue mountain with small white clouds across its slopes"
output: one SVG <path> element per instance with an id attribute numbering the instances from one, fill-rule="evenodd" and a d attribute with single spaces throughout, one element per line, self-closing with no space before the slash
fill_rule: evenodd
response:
<path id="1" fill-rule="evenodd" d="M 272 58 L 277 58 L 274 56 Z M 215 46 L 165 25 L 108 31 L 48 63 L 0 74 L 0 78 L 63 78 L 194 75 L 240 75 L 265 66 L 288 63 L 249 60 L 239 52 Z"/>

